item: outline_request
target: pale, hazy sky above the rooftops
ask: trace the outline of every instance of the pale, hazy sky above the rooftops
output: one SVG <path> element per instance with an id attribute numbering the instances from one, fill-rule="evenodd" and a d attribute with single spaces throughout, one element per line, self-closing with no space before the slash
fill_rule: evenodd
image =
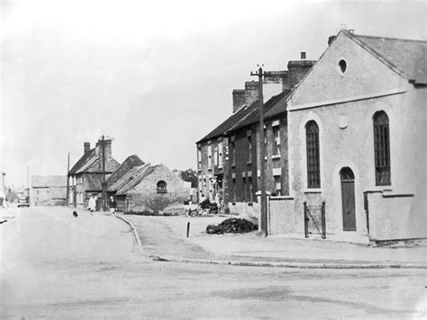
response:
<path id="1" fill-rule="evenodd" d="M 319 58 L 341 28 L 426 40 L 426 1 L 0 0 L 0 170 L 67 174 L 102 136 L 195 168 L 195 142 L 232 113 L 257 64 Z"/>

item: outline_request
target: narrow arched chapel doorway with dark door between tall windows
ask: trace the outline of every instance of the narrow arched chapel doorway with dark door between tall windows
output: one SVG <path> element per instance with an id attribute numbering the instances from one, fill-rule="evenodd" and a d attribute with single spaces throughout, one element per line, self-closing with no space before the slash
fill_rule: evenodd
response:
<path id="1" fill-rule="evenodd" d="M 344 231 L 356 231 L 356 205 L 354 197 L 354 173 L 345 166 L 340 170 L 342 227 Z"/>

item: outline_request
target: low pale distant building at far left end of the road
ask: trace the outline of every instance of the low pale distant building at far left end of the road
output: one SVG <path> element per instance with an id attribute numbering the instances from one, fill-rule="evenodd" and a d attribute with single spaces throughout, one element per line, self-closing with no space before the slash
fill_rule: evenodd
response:
<path id="1" fill-rule="evenodd" d="M 30 191 L 32 206 L 62 206 L 67 201 L 66 175 L 33 175 Z"/>

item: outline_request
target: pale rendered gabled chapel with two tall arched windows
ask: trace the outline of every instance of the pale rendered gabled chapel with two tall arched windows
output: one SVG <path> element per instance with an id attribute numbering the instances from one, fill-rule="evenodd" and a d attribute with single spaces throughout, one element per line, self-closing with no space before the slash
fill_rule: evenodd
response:
<path id="1" fill-rule="evenodd" d="M 287 99 L 291 200 L 276 233 L 304 232 L 303 202 L 328 233 L 427 237 L 427 41 L 340 31 Z"/>

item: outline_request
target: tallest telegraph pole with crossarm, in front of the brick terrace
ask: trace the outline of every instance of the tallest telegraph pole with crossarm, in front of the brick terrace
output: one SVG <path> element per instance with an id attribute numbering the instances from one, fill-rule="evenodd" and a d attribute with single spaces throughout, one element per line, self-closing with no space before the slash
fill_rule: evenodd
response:
<path id="1" fill-rule="evenodd" d="M 259 81 L 259 188 L 261 190 L 261 234 L 262 236 L 268 235 L 267 230 L 267 196 L 266 196 L 266 145 L 264 138 L 264 97 L 262 93 L 262 77 L 266 76 L 266 73 L 262 72 L 262 67 L 264 65 L 258 66 L 258 72 L 251 72 L 250 76 L 258 76 Z"/>

